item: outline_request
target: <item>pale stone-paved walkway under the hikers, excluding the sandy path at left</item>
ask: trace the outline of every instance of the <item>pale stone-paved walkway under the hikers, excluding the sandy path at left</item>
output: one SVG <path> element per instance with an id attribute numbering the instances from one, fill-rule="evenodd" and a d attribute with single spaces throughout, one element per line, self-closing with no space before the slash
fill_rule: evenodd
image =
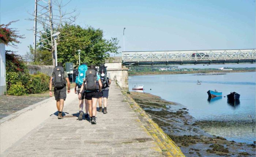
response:
<path id="1" fill-rule="evenodd" d="M 110 86 L 108 114 L 97 112 L 97 125 L 77 120 L 77 95 L 71 91 L 68 97 L 72 101 L 64 105 L 64 119 L 53 114 L 1 157 L 163 156 L 116 84 Z"/>

